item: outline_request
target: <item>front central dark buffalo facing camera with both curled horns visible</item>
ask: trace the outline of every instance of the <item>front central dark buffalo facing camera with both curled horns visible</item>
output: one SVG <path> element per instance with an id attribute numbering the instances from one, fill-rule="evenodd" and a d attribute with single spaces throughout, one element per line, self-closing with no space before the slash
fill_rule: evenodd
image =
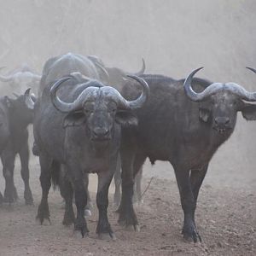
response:
<path id="1" fill-rule="evenodd" d="M 136 76 L 132 78 L 143 85 L 143 92 L 131 102 L 113 87 L 96 80 L 78 80 L 76 76 L 59 79 L 44 89 L 35 106 L 33 123 L 41 166 L 42 201 L 37 216 L 41 224 L 44 219 L 49 219 L 50 179 L 58 181 L 62 165 L 65 177 L 61 179 L 60 188 L 66 201 L 63 224 L 74 222 L 74 230 L 79 230 L 82 236 L 88 233 L 84 219 L 87 201 L 84 175 L 96 172 L 99 209 L 96 232 L 99 236 L 113 237 L 107 215 L 108 187 L 116 169 L 121 125 L 136 125 L 132 110 L 141 108 L 148 98 L 148 84 Z M 64 86 L 60 88 L 61 84 Z"/>

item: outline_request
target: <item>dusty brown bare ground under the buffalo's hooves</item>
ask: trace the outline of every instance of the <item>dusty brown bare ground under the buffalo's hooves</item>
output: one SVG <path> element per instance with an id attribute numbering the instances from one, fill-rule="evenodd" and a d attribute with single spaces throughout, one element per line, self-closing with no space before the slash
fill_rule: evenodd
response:
<path id="1" fill-rule="evenodd" d="M 49 193 L 51 225 L 39 225 L 35 221 L 41 189 L 38 182 L 39 166 L 32 168 L 32 191 L 34 207 L 27 207 L 22 198 L 23 184 L 20 173 L 15 172 L 20 200 L 14 205 L 0 207 L 0 255 L 255 255 L 256 254 L 256 193 L 253 183 L 241 186 L 232 183 L 239 177 L 234 171 L 230 185 L 222 183 L 221 172 L 212 176 L 209 172 L 201 189 L 197 208 L 198 230 L 202 243 L 183 241 L 180 234 L 183 215 L 179 203 L 177 184 L 171 175 L 170 166 L 158 163 L 153 168 L 145 167 L 143 190 L 152 173 L 167 173 L 166 178 L 154 177 L 144 195 L 144 203 L 137 207 L 141 231 L 135 233 L 117 224 L 110 195 L 109 219 L 117 241 L 100 241 L 96 238 L 97 211 L 88 218 L 90 237 L 74 238 L 73 228 L 62 226 L 63 210 L 59 192 Z M 212 172 L 213 170 L 211 170 Z M 215 171 L 215 170 L 214 170 Z M 247 177 L 247 176 L 246 176 Z M 225 178 L 226 179 L 226 178 Z M 212 183 L 212 184 L 210 184 Z M 248 184 L 249 183 L 249 184 Z M 3 191 L 3 180 L 1 181 Z M 95 189 L 91 178 L 90 189 Z M 111 189 L 113 190 L 113 188 Z M 95 194 L 93 194 L 95 198 Z"/>

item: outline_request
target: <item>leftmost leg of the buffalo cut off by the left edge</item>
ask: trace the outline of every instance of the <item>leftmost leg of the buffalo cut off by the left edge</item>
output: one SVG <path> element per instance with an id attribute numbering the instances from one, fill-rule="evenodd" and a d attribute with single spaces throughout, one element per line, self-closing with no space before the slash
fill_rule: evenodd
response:
<path id="1" fill-rule="evenodd" d="M 14 182 L 15 154 L 11 148 L 5 148 L 1 155 L 3 163 L 3 177 L 5 178 L 5 190 L 3 201 L 12 203 L 18 199 Z"/>

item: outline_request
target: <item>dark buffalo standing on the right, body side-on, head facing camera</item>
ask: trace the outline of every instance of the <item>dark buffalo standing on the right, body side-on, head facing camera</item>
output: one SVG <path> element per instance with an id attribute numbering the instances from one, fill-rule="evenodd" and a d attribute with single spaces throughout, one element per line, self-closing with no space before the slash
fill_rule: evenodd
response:
<path id="1" fill-rule="evenodd" d="M 195 226 L 195 207 L 208 164 L 218 147 L 234 131 L 237 112 L 241 111 L 247 120 L 256 119 L 256 105 L 247 103 L 256 102 L 256 92 L 247 92 L 234 83 L 192 81 L 200 69 L 186 80 L 141 76 L 148 83 L 150 97 L 144 108 L 136 111 L 137 127 L 122 131 L 120 223 L 138 224 L 131 200 L 133 177 L 145 159 L 148 157 L 152 163 L 167 160 L 174 168 L 180 192 L 184 212 L 183 237 L 201 240 Z M 137 96 L 137 90 L 129 84 L 125 90 L 125 97 Z"/>

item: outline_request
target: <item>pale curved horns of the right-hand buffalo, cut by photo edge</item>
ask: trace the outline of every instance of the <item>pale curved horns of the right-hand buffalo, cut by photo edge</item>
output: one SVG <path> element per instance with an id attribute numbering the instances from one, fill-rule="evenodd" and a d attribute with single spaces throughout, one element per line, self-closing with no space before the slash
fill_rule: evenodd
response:
<path id="1" fill-rule="evenodd" d="M 235 83 L 213 83 L 209 85 L 205 90 L 200 93 L 196 93 L 192 87 L 191 82 L 195 73 L 201 70 L 202 67 L 195 69 L 189 74 L 189 77 L 184 82 L 184 90 L 187 96 L 194 102 L 201 102 L 207 97 L 212 96 L 212 94 L 218 92 L 219 90 L 229 90 L 230 92 L 240 96 L 241 99 L 248 102 L 256 102 L 256 92 L 248 92 L 241 85 Z"/>

